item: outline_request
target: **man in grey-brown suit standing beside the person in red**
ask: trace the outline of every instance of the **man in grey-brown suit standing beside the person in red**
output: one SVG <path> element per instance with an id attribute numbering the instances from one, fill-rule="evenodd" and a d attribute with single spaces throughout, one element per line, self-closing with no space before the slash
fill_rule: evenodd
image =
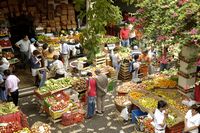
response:
<path id="1" fill-rule="evenodd" d="M 105 111 L 104 100 L 107 93 L 108 78 L 98 69 L 95 71 L 95 74 L 97 75 L 97 113 L 101 114 Z"/>

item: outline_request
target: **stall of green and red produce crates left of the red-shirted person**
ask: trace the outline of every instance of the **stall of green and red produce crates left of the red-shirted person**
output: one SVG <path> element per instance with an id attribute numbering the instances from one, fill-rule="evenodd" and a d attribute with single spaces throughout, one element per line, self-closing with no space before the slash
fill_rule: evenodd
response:
<path id="1" fill-rule="evenodd" d="M 43 87 L 35 90 L 35 95 L 40 108 L 50 116 L 52 122 L 60 122 L 63 119 L 66 121 L 66 118 L 62 117 L 66 113 L 73 115 L 73 118 L 78 116 L 79 122 L 84 118 L 84 111 L 78 92 L 85 91 L 85 88 L 84 78 L 49 79 Z"/>

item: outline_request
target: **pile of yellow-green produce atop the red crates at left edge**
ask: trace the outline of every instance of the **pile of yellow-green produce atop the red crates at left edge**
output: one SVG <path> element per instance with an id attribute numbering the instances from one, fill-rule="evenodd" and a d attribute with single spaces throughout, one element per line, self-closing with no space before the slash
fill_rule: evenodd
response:
<path id="1" fill-rule="evenodd" d="M 19 111 L 12 102 L 0 104 L 0 115 L 11 114 Z"/>

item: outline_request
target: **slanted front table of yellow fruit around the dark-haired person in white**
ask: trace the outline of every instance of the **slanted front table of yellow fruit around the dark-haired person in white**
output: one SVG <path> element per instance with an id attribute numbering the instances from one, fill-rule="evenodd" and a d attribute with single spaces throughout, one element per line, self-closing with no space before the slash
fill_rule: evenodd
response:
<path id="1" fill-rule="evenodd" d="M 134 92 L 138 92 L 138 93 L 134 93 Z M 162 93 L 164 92 L 164 93 Z M 165 95 L 162 94 L 167 94 L 170 95 L 170 93 L 167 92 L 173 92 L 172 94 L 176 94 L 177 98 L 174 99 L 175 102 L 173 102 L 171 99 L 169 99 L 169 97 L 165 97 Z M 159 100 L 164 100 L 168 103 L 168 109 L 169 109 L 169 115 L 173 117 L 173 119 L 169 118 L 167 119 L 167 133 L 171 133 L 171 132 L 180 132 L 183 130 L 184 128 L 184 116 L 185 116 L 185 111 L 181 106 L 181 100 L 183 98 L 185 98 L 185 96 L 183 96 L 177 89 L 158 89 L 158 90 L 154 90 L 154 91 L 134 91 L 132 90 L 132 94 L 133 96 L 131 96 L 131 94 L 129 94 L 129 98 L 131 100 L 131 102 L 138 106 L 143 112 L 148 112 L 151 116 L 153 116 L 154 114 L 154 110 L 155 108 L 157 108 L 157 102 Z M 139 96 L 139 93 L 142 94 Z M 134 95 L 138 95 L 134 96 Z M 136 99 L 134 99 L 133 97 L 136 97 Z M 145 101 L 146 100 L 146 101 Z M 177 103 L 177 105 L 175 105 L 175 103 Z M 180 103 L 180 104 L 179 104 Z M 182 109 L 182 110 L 181 110 Z"/>

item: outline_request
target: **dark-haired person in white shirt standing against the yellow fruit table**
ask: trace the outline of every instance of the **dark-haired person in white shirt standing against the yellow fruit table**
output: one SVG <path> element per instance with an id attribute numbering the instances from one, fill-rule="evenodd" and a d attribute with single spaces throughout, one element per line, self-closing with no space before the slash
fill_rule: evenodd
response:
<path id="1" fill-rule="evenodd" d="M 167 103 L 165 101 L 158 101 L 157 109 L 154 113 L 155 133 L 165 133 L 166 118 L 168 116 Z"/>

